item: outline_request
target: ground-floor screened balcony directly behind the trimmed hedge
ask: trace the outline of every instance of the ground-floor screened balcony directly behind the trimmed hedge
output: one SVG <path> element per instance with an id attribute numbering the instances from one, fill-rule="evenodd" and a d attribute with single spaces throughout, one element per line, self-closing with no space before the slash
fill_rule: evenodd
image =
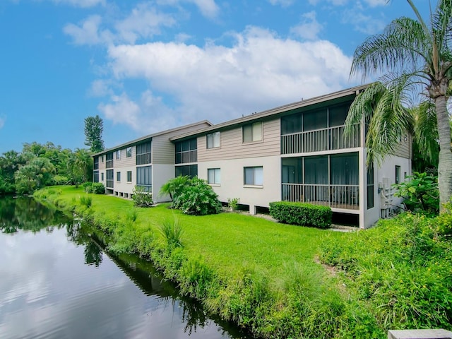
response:
<path id="1" fill-rule="evenodd" d="M 357 153 L 282 159 L 283 201 L 359 209 Z"/>

